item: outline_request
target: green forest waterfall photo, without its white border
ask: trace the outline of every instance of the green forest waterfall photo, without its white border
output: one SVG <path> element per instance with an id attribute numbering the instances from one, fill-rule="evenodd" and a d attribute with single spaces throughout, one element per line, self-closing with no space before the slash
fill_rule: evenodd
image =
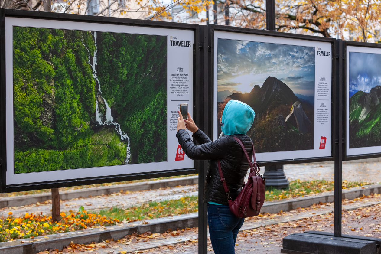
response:
<path id="1" fill-rule="evenodd" d="M 166 66 L 166 36 L 13 27 L 14 173 L 166 161 Z"/>

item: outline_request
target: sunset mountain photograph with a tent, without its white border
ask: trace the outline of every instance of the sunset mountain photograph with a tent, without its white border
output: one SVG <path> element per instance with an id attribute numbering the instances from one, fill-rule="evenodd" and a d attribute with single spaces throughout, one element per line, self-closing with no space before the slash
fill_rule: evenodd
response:
<path id="1" fill-rule="evenodd" d="M 254 109 L 256 152 L 314 149 L 315 48 L 218 39 L 217 55 L 217 104 Z"/>

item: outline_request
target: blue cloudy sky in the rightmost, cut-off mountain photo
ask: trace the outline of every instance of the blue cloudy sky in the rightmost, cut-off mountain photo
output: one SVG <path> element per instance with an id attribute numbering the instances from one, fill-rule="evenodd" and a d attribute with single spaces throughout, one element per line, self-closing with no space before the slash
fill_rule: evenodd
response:
<path id="1" fill-rule="evenodd" d="M 349 97 L 381 85 L 381 54 L 349 52 Z"/>

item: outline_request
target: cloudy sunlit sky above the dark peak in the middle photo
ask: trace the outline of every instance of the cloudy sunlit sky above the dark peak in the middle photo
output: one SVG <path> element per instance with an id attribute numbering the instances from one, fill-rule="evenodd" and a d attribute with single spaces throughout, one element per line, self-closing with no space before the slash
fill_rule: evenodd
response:
<path id="1" fill-rule="evenodd" d="M 294 93 L 314 96 L 315 48 L 218 39 L 217 90 L 250 93 L 275 77 Z"/>

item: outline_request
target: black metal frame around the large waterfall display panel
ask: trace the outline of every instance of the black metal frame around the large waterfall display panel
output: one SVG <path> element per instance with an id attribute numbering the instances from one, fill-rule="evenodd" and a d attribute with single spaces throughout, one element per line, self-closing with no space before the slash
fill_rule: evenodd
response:
<path id="1" fill-rule="evenodd" d="M 4 192 L 18 192 L 26 190 L 38 190 L 38 189 L 51 189 L 58 187 L 69 187 L 86 184 L 100 184 L 106 182 L 115 181 L 130 181 L 138 179 L 149 179 L 155 177 L 168 177 L 168 176 L 181 176 L 185 174 L 199 173 L 200 169 L 203 169 L 203 165 L 195 162 L 194 168 L 184 168 L 165 171 L 147 171 L 144 173 L 133 173 L 113 176 L 101 176 L 101 177 L 88 177 L 84 179 L 67 179 L 60 181 L 48 181 L 48 182 L 32 182 L 29 184 L 17 184 L 6 185 L 6 96 L 5 96 L 5 17 L 18 17 L 18 18 L 32 18 L 32 19 L 46 19 L 46 20 L 61 20 L 61 21 L 75 21 L 75 22 L 89 22 L 89 23 L 102 23 L 102 24 L 114 24 L 114 25 L 126 25 L 126 26 L 144 26 L 144 27 L 160 27 L 166 29 L 181 29 L 192 30 L 194 32 L 194 53 L 193 53 L 193 92 L 194 92 L 194 119 L 197 122 L 203 121 L 203 112 L 196 105 L 203 105 L 202 97 L 195 96 L 199 94 L 203 89 L 199 87 L 200 78 L 200 51 L 198 50 L 197 43 L 199 40 L 199 26 L 195 24 L 182 24 L 173 22 L 162 21 L 147 21 L 141 19 L 125 19 L 125 18 L 110 18 L 101 16 L 88 16 L 79 14 L 62 14 L 62 13 L 50 13 L 40 11 L 23 11 L 23 10 L 11 10 L 0 9 L 0 115 L 1 115 L 1 132 L 0 132 L 0 155 L 1 155 L 1 174 L 0 174 L 0 193 Z M 201 89 L 201 90 L 200 90 Z M 205 123 L 207 125 L 207 123 Z M 203 124 L 204 125 L 204 124 Z M 203 126 L 202 125 L 202 126 Z M 204 127 L 204 126 L 203 126 Z M 146 164 L 149 168 L 149 164 Z"/>

